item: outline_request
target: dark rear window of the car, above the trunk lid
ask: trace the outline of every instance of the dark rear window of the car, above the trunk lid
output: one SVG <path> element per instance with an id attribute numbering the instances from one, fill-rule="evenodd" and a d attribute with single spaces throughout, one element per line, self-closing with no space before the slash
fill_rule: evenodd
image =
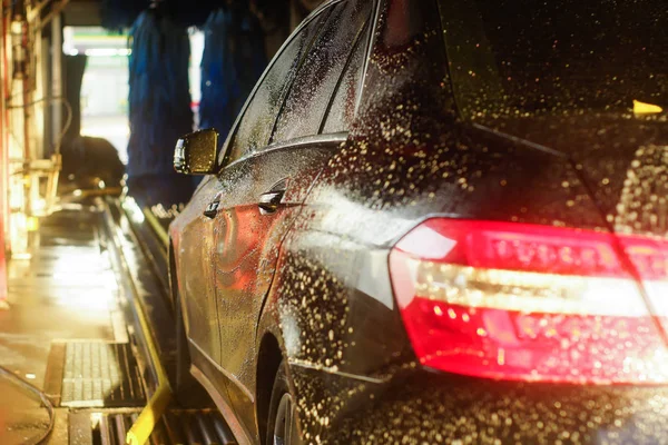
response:
<path id="1" fill-rule="evenodd" d="M 469 113 L 667 106 L 665 0 L 440 0 Z"/>

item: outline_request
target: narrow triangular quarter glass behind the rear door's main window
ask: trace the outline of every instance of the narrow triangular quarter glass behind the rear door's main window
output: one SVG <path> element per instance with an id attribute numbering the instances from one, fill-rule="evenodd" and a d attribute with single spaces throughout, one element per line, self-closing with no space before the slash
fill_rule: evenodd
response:
<path id="1" fill-rule="evenodd" d="M 371 26 L 367 23 L 363 34 L 351 55 L 345 71 L 340 80 L 338 88 L 332 98 L 332 103 L 327 112 L 324 134 L 347 131 L 351 128 L 360 92 L 360 80 L 364 70 L 364 60 L 366 56 L 366 41 Z"/>

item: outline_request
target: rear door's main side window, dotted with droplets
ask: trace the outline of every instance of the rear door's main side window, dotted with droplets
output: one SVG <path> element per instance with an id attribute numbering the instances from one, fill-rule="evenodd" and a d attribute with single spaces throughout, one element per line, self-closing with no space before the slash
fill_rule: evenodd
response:
<path id="1" fill-rule="evenodd" d="M 371 2 L 351 0 L 334 8 L 291 87 L 273 142 L 317 135 L 351 50 L 371 14 Z"/>

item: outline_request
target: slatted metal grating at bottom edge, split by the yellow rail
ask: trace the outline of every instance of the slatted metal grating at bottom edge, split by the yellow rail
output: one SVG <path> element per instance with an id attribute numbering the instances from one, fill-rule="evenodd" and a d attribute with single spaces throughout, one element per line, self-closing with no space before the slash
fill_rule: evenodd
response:
<path id="1" fill-rule="evenodd" d="M 139 412 L 97 413 L 92 442 L 125 444 Z M 232 431 L 216 411 L 173 411 L 163 416 L 149 438 L 150 445 L 236 445 Z"/>

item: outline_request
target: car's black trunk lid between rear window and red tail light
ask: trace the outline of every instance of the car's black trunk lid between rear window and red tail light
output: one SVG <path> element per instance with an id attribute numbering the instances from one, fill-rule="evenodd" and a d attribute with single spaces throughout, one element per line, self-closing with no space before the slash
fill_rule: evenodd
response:
<path id="1" fill-rule="evenodd" d="M 597 206 L 606 215 L 607 222 L 620 222 L 618 217 L 628 220 L 633 209 L 642 210 L 636 211 L 640 218 L 637 222 L 628 228 L 617 226 L 617 231 L 641 235 L 664 235 L 668 231 L 665 221 L 668 211 L 661 207 L 666 205 L 666 116 L 591 113 L 483 118 L 477 122 L 507 137 L 521 137 L 568 156 L 578 176 L 591 190 Z M 627 202 L 630 188 L 648 188 L 648 180 L 652 182 L 651 187 L 638 195 L 644 195 L 646 200 L 655 195 L 657 207 L 638 201 L 631 208 L 626 208 L 623 205 L 630 204 Z M 655 217 L 656 222 L 650 221 Z M 652 227 L 652 224 L 658 226 Z"/>

